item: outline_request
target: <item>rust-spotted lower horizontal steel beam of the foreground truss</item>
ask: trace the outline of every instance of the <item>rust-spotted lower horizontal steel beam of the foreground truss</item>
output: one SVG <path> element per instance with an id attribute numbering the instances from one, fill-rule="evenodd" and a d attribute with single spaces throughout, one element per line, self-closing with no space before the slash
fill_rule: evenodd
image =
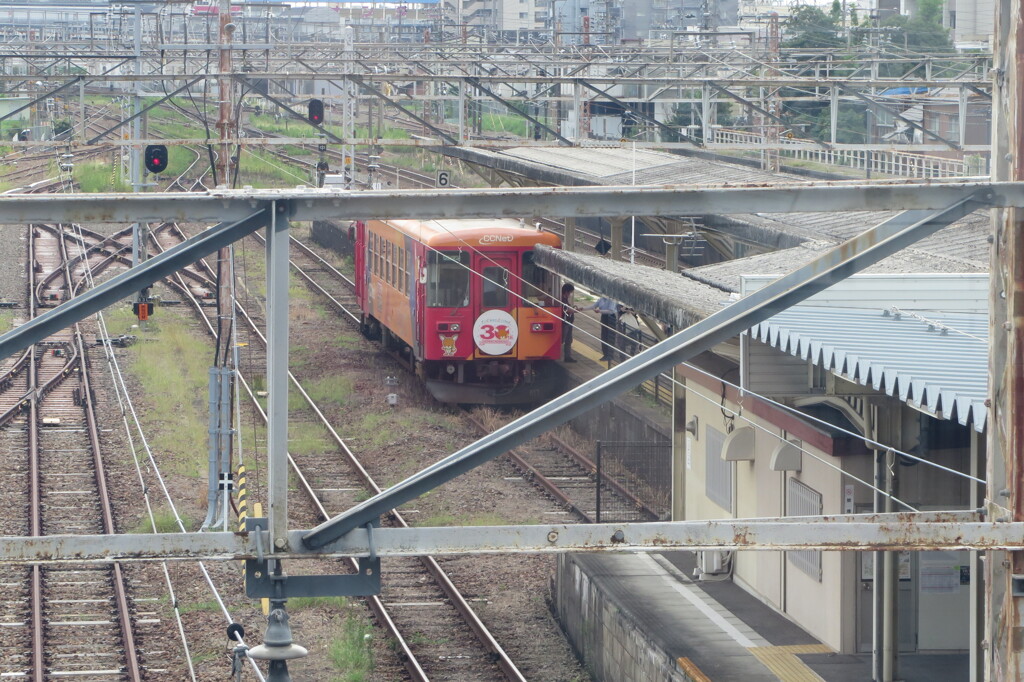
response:
<path id="1" fill-rule="evenodd" d="M 255 520 L 255 519 L 254 519 Z M 980 512 L 472 527 L 355 528 L 314 550 L 288 534 L 273 559 L 667 550 L 1021 550 L 1024 522 Z M 260 535 L 262 534 L 262 535 Z M 266 531 L 0 538 L 0 563 L 111 563 L 270 557 Z"/>

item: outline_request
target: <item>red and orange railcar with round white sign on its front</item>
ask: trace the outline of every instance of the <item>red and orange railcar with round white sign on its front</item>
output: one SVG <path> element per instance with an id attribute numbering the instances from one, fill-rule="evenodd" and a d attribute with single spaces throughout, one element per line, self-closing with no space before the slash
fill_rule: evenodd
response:
<path id="1" fill-rule="evenodd" d="M 558 283 L 534 263 L 560 239 L 518 220 L 355 224 L 364 332 L 402 351 L 445 402 L 523 404 L 560 385 Z"/>

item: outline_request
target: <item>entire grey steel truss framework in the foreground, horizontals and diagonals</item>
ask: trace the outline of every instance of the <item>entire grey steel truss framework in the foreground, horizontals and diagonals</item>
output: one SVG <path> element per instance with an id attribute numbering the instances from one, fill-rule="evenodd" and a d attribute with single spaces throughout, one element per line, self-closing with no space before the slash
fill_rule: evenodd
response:
<path id="1" fill-rule="evenodd" d="M 319 526 L 295 529 L 289 523 L 288 278 L 289 222 L 313 219 L 421 217 L 560 216 L 618 217 L 631 213 L 675 215 L 693 212 L 803 212 L 903 209 L 817 260 L 784 275 L 645 350 L 552 402 L 498 429 L 404 481 L 357 504 Z M 308 595 L 374 594 L 380 588 L 380 558 L 412 554 L 487 552 L 660 551 L 666 549 L 754 550 L 923 550 L 971 549 L 989 552 L 989 583 L 1024 592 L 1024 577 L 998 561 L 999 552 L 1024 550 L 1024 519 L 1004 508 L 1000 492 L 989 489 L 984 509 L 931 513 L 847 515 L 817 518 L 758 518 L 670 523 L 565 524 L 481 528 L 381 528 L 389 510 L 490 461 L 514 445 L 564 423 L 656 374 L 671 371 L 696 353 L 729 339 L 781 309 L 827 288 L 979 208 L 1024 208 L 1022 182 L 914 184 L 829 183 L 766 187 L 594 187 L 535 190 L 344 191 L 214 190 L 182 197 L 78 195 L 0 197 L 0 220 L 26 222 L 214 222 L 213 227 L 137 265 L 85 294 L 0 336 L 0 356 L 45 338 L 127 294 L 150 286 L 220 247 L 258 229 L 267 236 L 268 476 L 266 518 L 248 519 L 239 534 L 152 536 L 49 536 L 0 539 L 4 562 L 110 562 L 222 559 L 246 562 L 247 593 L 267 597 L 281 613 L 285 601 Z M 1017 260 L 1019 260 L 1019 255 Z M 1011 262 L 1017 262 L 1013 257 Z M 1016 276 L 1016 275 L 1012 275 Z M 997 281 L 993 278 L 993 282 Z M 1000 280 L 1001 281 L 1001 280 Z M 1019 279 L 1015 280 L 1019 285 Z M 993 285 L 995 286 L 995 285 Z M 1001 285 L 1000 285 L 1001 286 Z M 1000 300 L 993 291 L 993 301 Z M 1010 334 L 1019 317 L 1007 324 Z M 1000 333 L 1006 333 L 1000 327 Z M 1001 358 L 993 358 L 993 363 Z M 1017 385 L 1010 373 L 999 381 Z M 1000 387 L 993 387 L 998 394 Z M 993 421 L 1007 416 L 994 411 Z M 1013 457 L 990 451 L 993 466 Z M 1017 466 L 1020 466 L 1017 463 Z M 994 477 L 998 479 L 999 477 Z M 989 477 L 993 480 L 993 477 Z M 1012 502 L 1016 505 L 1016 500 Z M 354 576 L 292 576 L 286 561 L 348 556 L 359 561 Z M 989 601 L 992 638 L 1011 638 Z M 989 641 L 992 641 L 989 638 Z M 273 678 L 271 678 L 273 679 Z"/>

